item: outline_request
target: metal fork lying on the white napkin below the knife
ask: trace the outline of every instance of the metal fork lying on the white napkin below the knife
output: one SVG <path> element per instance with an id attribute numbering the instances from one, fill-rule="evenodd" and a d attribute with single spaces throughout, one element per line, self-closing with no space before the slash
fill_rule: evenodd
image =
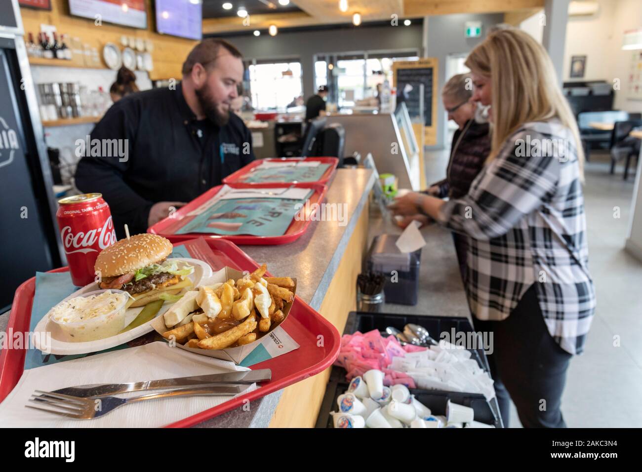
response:
<path id="1" fill-rule="evenodd" d="M 194 396 L 227 396 L 236 395 L 247 389 L 248 385 L 227 384 L 211 387 L 200 387 L 196 389 L 169 390 L 166 392 L 155 392 L 147 395 L 140 395 L 130 398 L 105 397 L 101 399 L 79 398 L 71 395 L 56 394 L 53 392 L 43 392 L 35 390 L 29 401 L 50 408 L 41 406 L 25 405 L 33 410 L 40 410 L 55 415 L 64 416 L 74 419 L 94 419 L 100 418 L 118 408 L 119 406 L 128 405 L 139 401 L 155 400 L 160 398 L 173 397 L 194 397 Z M 62 411 L 61 411 L 62 410 Z"/>

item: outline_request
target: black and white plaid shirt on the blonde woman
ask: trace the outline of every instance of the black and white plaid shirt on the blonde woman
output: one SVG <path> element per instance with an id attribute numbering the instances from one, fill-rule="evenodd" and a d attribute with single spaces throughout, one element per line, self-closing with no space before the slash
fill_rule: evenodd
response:
<path id="1" fill-rule="evenodd" d="M 446 202 L 440 223 L 469 236 L 466 292 L 480 320 L 503 320 L 535 284 L 555 342 L 582 352 L 595 310 L 577 150 L 557 119 L 525 123 Z"/>

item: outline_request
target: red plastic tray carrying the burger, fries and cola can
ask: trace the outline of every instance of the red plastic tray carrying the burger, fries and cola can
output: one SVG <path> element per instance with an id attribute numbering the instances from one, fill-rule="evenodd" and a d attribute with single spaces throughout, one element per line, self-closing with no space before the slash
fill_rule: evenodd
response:
<path id="1" fill-rule="evenodd" d="M 220 265 L 213 267 L 213 270 L 229 266 L 238 270 L 253 271 L 259 267 L 252 258 L 229 241 L 221 239 L 209 241 L 209 247 L 216 257 L 220 258 Z M 67 270 L 69 270 L 68 267 L 62 267 L 49 272 L 67 272 Z M 270 273 L 266 272 L 266 275 L 270 275 Z M 12 330 L 14 333 L 29 331 L 34 293 L 35 277 L 22 283 L 15 291 L 7 331 Z M 243 405 L 245 400 L 256 400 L 324 371 L 333 364 L 339 355 L 341 347 L 339 332 L 299 297 L 295 297 L 288 319 L 283 322 L 283 327 L 288 331 L 288 335 L 300 345 L 299 349 L 252 365 L 252 370 L 272 369 L 272 380 L 261 383 L 252 392 L 168 424 L 166 427 L 186 428 L 234 410 L 234 408 Z M 318 346 L 318 335 L 322 335 L 324 340 L 324 345 L 320 347 Z M 22 371 L 24 371 L 25 354 L 24 349 L 6 348 L 0 354 L 0 402 L 6 398 L 20 380 Z"/>

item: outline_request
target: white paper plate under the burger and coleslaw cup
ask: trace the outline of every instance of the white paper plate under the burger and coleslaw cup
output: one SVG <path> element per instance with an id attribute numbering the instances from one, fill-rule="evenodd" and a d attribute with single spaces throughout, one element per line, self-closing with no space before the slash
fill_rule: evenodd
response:
<path id="1" fill-rule="evenodd" d="M 213 274 L 212 268 L 209 267 L 209 264 L 204 261 L 200 261 L 198 259 L 189 259 L 189 258 L 172 258 L 172 260 L 178 261 L 179 267 L 182 264 L 189 264 L 194 267 L 194 272 L 188 275 L 189 279 L 191 279 L 192 283 L 194 284 L 193 285 L 194 287 L 198 286 L 201 283 L 201 281 L 205 281 L 209 279 Z M 92 290 L 98 290 L 96 288 L 95 283 L 84 286 L 77 292 L 74 292 L 71 295 L 69 295 L 69 297 L 65 298 L 64 300 L 68 300 L 73 297 L 78 297 L 78 295 L 91 292 Z M 171 305 L 172 303 L 165 302 L 160 307 L 160 310 L 157 313 L 155 318 L 165 313 Z M 130 324 L 135 319 L 135 317 L 138 316 L 138 313 L 140 313 L 141 310 L 143 310 L 142 306 L 138 306 L 136 308 L 129 308 L 125 313 L 126 325 Z M 33 330 L 34 333 L 39 333 L 38 336 L 33 337 L 34 338 L 33 344 L 37 349 L 40 349 L 40 351 L 46 354 L 96 353 L 98 351 L 103 351 L 103 349 L 109 349 L 110 347 L 116 347 L 117 345 L 124 344 L 128 341 L 131 341 L 132 339 L 135 339 L 139 336 L 149 333 L 150 331 L 153 331 L 152 320 L 150 320 L 145 324 L 141 324 L 141 326 L 137 326 L 137 328 L 130 329 L 129 331 L 125 331 L 125 333 L 112 336 L 110 338 L 99 339 L 96 341 L 87 341 L 87 342 L 66 342 L 66 341 L 55 339 L 53 337 L 53 333 L 55 333 L 55 330 L 52 333 L 52 330 L 51 328 L 49 328 L 48 325 L 49 325 L 49 317 L 45 316 L 42 318 L 42 320 L 40 320 L 36 328 Z M 49 349 L 44 349 L 44 346 L 40 345 L 40 340 L 46 339 L 45 336 L 47 335 L 47 333 L 52 333 L 50 337 L 51 341 L 49 342 Z"/>

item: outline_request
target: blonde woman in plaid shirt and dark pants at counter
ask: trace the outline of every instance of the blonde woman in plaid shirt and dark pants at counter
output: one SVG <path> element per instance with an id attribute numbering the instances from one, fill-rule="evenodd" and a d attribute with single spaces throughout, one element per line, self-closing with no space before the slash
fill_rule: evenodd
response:
<path id="1" fill-rule="evenodd" d="M 465 288 L 476 329 L 494 333 L 489 362 L 505 423 L 510 394 L 523 426 L 564 427 L 566 370 L 595 308 L 577 125 L 527 33 L 491 33 L 465 64 L 473 100 L 490 105 L 485 167 L 464 197 L 411 193 L 392 207 L 468 236 Z"/>

